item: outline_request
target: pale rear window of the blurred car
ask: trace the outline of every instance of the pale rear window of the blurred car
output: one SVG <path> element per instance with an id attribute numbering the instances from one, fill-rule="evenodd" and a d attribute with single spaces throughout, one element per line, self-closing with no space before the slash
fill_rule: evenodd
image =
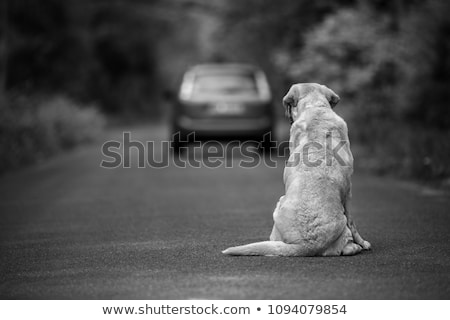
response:
<path id="1" fill-rule="evenodd" d="M 197 74 L 194 78 L 192 96 L 258 96 L 258 87 L 252 73 Z"/>

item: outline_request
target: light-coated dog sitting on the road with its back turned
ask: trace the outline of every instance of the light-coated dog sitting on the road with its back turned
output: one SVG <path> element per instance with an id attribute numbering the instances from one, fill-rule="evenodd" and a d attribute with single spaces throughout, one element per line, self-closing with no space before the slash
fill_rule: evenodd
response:
<path id="1" fill-rule="evenodd" d="M 231 247 L 222 253 L 339 256 L 371 248 L 356 229 L 349 208 L 353 155 L 347 124 L 333 111 L 339 100 L 331 89 L 317 83 L 290 88 L 283 98 L 291 121 L 285 195 L 273 213 L 270 241 Z"/>

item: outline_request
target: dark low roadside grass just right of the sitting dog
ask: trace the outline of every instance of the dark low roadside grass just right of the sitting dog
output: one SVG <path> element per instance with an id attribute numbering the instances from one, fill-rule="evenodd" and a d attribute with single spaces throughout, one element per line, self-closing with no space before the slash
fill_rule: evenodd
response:
<path id="1" fill-rule="evenodd" d="M 377 174 L 448 183 L 449 137 L 449 130 L 394 121 L 365 123 L 351 140 L 357 153 L 355 166 Z"/>

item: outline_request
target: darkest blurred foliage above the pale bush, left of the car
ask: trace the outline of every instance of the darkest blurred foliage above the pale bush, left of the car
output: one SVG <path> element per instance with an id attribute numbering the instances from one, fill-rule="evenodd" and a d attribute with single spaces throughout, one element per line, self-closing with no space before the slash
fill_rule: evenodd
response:
<path id="1" fill-rule="evenodd" d="M 9 0 L 0 24 L 3 38 L 8 33 L 6 89 L 65 94 L 106 112 L 158 115 L 148 105 L 157 94 L 159 24 L 148 10 L 135 1 Z"/>

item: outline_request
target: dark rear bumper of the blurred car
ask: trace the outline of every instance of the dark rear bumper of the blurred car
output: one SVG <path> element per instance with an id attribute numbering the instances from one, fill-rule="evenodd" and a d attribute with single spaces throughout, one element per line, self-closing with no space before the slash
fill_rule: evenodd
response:
<path id="1" fill-rule="evenodd" d="M 195 119 L 182 116 L 174 124 L 174 131 L 210 137 L 258 137 L 272 128 L 273 120 L 269 117 Z"/>

